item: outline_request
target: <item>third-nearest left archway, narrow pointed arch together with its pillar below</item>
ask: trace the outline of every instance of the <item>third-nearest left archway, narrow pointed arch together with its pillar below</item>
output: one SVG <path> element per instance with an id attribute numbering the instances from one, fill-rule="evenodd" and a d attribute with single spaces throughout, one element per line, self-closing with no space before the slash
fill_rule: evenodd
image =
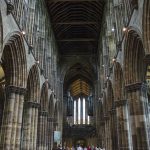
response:
<path id="1" fill-rule="evenodd" d="M 37 149 L 47 149 L 48 148 L 48 83 L 45 82 L 42 86 L 41 99 L 40 99 L 40 112 L 38 116 L 38 139 L 37 139 Z"/>

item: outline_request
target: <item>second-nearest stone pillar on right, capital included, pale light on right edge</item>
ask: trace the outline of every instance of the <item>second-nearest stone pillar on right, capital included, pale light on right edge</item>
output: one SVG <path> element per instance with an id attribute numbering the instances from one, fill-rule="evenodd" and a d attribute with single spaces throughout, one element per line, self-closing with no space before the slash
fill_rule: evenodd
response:
<path id="1" fill-rule="evenodd" d="M 127 100 L 115 101 L 117 117 L 118 150 L 132 150 Z"/>

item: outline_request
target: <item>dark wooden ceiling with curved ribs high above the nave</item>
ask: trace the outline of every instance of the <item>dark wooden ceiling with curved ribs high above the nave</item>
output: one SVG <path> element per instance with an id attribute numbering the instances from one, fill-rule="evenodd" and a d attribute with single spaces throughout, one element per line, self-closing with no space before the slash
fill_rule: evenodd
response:
<path id="1" fill-rule="evenodd" d="M 104 0 L 46 0 L 61 55 L 97 52 Z"/>

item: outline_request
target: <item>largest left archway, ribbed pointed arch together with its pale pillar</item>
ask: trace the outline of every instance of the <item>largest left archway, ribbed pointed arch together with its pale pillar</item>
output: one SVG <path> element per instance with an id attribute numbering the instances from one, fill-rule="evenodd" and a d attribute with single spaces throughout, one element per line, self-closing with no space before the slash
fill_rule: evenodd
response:
<path id="1" fill-rule="evenodd" d="M 22 34 L 12 33 L 1 58 L 5 74 L 5 104 L 1 128 L 0 149 L 20 147 L 24 94 L 27 81 L 26 53 Z"/>

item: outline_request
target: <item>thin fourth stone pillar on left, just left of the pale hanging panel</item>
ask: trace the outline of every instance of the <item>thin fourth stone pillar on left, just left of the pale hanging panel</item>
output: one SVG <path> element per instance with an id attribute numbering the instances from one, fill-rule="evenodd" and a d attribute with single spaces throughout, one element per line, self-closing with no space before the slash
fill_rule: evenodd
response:
<path id="1" fill-rule="evenodd" d="M 47 130 L 47 136 L 48 136 L 48 150 L 52 150 L 53 148 L 53 122 L 54 122 L 54 118 L 49 117 L 47 119 L 48 121 L 48 130 Z"/>

